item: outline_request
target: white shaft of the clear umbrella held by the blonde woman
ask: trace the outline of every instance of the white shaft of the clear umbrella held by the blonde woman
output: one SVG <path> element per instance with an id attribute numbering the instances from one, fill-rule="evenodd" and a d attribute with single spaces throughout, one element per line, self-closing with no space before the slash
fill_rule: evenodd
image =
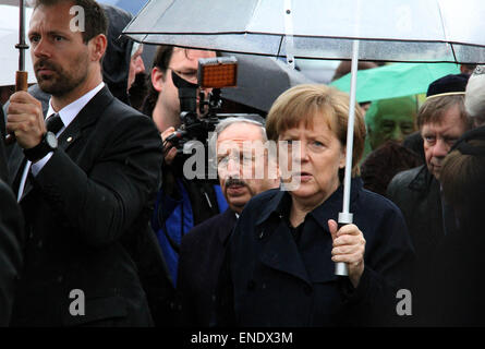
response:
<path id="1" fill-rule="evenodd" d="M 353 41 L 352 46 L 352 65 L 350 80 L 350 104 L 349 104 L 349 121 L 347 127 L 347 146 L 345 146 L 345 176 L 343 178 L 343 207 L 339 214 L 339 225 L 351 224 L 352 214 L 349 213 L 350 206 L 350 182 L 352 178 L 352 154 L 353 154 L 353 133 L 355 123 L 355 89 L 357 82 L 357 63 L 359 63 L 359 40 Z M 336 263 L 335 274 L 348 276 L 349 268 L 345 263 Z"/>

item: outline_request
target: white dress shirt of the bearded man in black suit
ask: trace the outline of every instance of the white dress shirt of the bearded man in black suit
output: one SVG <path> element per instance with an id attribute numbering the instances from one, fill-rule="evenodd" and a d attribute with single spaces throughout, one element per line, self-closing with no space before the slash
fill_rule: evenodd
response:
<path id="1" fill-rule="evenodd" d="M 74 120 L 74 118 L 80 113 L 80 111 L 89 103 L 89 100 L 96 96 L 96 94 L 101 91 L 101 88 L 105 87 L 105 83 L 101 82 L 99 85 L 97 85 L 95 88 L 89 91 L 87 94 L 82 96 L 81 98 L 77 98 L 70 105 L 65 106 L 61 110 L 58 111 L 59 117 L 62 120 L 62 123 L 64 124 L 62 129 L 56 134 L 56 137 L 59 137 L 59 135 L 64 132 L 64 130 L 69 127 L 69 124 Z M 52 108 L 52 98 L 49 100 L 49 110 L 47 111 L 47 118 L 50 118 L 52 115 L 56 113 L 56 110 Z M 27 164 L 25 165 L 24 172 L 22 173 L 21 179 L 21 185 L 19 186 L 19 193 L 17 193 L 17 202 L 21 201 L 22 194 L 25 189 L 25 181 L 27 179 L 28 170 L 31 169 L 32 165 L 32 174 L 36 177 L 38 172 L 44 168 L 44 166 L 49 161 L 51 158 L 53 152 L 50 152 L 45 157 L 43 157 L 40 160 L 38 160 L 35 164 L 32 164 L 27 160 Z"/>

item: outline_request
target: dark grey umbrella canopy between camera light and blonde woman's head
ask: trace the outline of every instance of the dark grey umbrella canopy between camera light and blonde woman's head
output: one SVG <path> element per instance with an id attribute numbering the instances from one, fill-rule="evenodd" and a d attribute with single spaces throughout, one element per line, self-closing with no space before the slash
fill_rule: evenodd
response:
<path id="1" fill-rule="evenodd" d="M 222 89 L 221 96 L 265 112 L 288 88 L 314 83 L 281 60 L 252 55 L 226 55 L 238 59 L 238 86 Z"/>

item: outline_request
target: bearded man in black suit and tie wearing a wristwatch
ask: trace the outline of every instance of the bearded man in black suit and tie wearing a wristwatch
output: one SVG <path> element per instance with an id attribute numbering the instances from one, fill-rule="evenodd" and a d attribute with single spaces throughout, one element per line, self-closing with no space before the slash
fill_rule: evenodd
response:
<path id="1" fill-rule="evenodd" d="M 31 53 L 52 97 L 46 121 L 25 92 L 8 110 L 16 137 L 9 170 L 27 234 L 12 325 L 153 324 L 130 249 L 149 240 L 161 141 L 102 83 L 106 28 L 94 0 L 35 3 Z"/>

